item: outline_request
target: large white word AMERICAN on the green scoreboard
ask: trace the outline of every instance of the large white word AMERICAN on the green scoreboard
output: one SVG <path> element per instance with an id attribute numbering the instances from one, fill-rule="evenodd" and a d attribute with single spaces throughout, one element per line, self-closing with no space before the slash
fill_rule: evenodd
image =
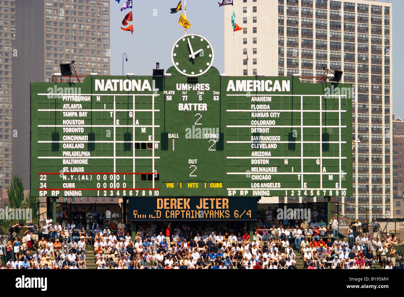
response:
<path id="1" fill-rule="evenodd" d="M 290 80 L 229 80 L 227 92 L 290 92 Z"/>

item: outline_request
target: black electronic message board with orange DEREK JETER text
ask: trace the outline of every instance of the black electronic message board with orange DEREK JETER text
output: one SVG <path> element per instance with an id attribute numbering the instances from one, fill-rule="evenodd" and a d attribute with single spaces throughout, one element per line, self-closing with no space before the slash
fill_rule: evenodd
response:
<path id="1" fill-rule="evenodd" d="M 257 199 L 175 197 L 129 199 L 128 219 L 154 221 L 255 220 Z"/>

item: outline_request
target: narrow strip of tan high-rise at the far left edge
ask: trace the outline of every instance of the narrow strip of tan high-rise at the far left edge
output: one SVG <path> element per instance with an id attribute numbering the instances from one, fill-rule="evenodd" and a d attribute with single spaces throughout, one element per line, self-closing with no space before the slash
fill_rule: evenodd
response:
<path id="1" fill-rule="evenodd" d="M 10 184 L 12 169 L 11 61 L 14 40 L 15 1 L 0 1 L 0 189 Z"/>

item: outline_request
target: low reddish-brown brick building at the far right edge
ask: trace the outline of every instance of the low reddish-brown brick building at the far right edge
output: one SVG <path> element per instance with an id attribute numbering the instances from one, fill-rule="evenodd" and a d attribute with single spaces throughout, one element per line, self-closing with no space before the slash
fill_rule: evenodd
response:
<path id="1" fill-rule="evenodd" d="M 404 218 L 404 121 L 393 113 L 393 212 L 392 218 Z"/>

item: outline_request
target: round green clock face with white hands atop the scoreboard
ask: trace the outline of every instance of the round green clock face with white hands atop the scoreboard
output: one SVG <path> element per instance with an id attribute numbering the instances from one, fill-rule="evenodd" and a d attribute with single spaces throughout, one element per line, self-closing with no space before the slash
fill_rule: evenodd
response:
<path id="1" fill-rule="evenodd" d="M 204 74 L 213 63 L 213 48 L 210 42 L 198 34 L 180 37 L 171 50 L 175 68 L 186 76 Z"/>

